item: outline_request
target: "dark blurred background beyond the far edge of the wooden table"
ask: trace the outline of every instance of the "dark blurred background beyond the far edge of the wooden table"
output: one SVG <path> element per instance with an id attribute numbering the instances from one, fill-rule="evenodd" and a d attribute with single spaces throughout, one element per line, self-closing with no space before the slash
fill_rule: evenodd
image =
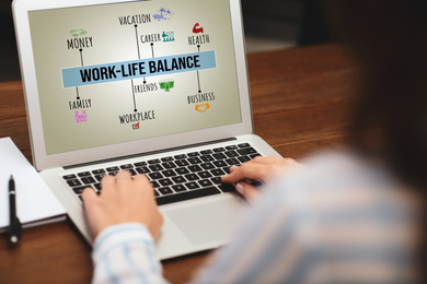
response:
<path id="1" fill-rule="evenodd" d="M 249 54 L 332 42 L 318 0 L 241 1 Z M 21 79 L 11 3 L 0 0 L 0 82 Z"/>

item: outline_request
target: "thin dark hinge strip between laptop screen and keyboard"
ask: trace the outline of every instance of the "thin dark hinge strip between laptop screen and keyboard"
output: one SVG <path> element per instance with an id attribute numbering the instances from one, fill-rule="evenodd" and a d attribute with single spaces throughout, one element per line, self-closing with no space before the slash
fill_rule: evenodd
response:
<path id="1" fill-rule="evenodd" d="M 145 153 L 132 154 L 132 155 L 127 155 L 127 156 L 113 157 L 113 158 L 100 159 L 100 161 L 95 161 L 95 162 L 64 166 L 62 168 L 64 169 L 71 169 L 71 168 L 77 168 L 77 167 L 93 166 L 96 164 L 104 164 L 104 163 L 109 163 L 109 162 L 115 162 L 115 161 L 120 161 L 120 159 L 142 157 L 142 156 L 149 156 L 149 155 L 155 155 L 155 154 L 164 154 L 164 153 L 172 152 L 172 151 L 180 151 L 180 150 L 185 150 L 185 149 L 191 149 L 191 147 L 196 147 L 196 146 L 211 145 L 211 144 L 223 143 L 223 142 L 229 142 L 229 141 L 234 141 L 234 140 L 238 140 L 238 139 L 236 138 L 227 138 L 227 139 L 214 140 L 214 141 L 209 141 L 209 142 L 201 142 L 201 143 L 195 143 L 195 144 L 189 144 L 189 145 L 184 145 L 184 146 L 170 147 L 170 149 L 145 152 Z"/>

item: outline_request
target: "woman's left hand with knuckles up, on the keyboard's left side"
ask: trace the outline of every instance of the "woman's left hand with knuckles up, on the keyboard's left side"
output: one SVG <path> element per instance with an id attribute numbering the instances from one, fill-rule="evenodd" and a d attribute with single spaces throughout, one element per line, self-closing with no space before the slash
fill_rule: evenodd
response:
<path id="1" fill-rule="evenodd" d="M 145 175 L 131 178 L 126 170 L 117 176 L 105 176 L 101 180 L 102 191 L 97 196 L 92 188 L 82 193 L 84 213 L 95 238 L 104 228 L 126 222 L 138 222 L 147 226 L 155 239 L 163 225 L 154 200 L 154 190 Z"/>

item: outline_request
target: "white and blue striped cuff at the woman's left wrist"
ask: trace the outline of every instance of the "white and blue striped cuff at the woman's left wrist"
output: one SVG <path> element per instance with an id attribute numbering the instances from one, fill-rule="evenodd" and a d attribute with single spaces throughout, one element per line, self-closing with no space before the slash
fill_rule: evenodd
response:
<path id="1" fill-rule="evenodd" d="M 95 239 L 92 283 L 168 283 L 150 233 L 139 223 L 114 225 Z"/>

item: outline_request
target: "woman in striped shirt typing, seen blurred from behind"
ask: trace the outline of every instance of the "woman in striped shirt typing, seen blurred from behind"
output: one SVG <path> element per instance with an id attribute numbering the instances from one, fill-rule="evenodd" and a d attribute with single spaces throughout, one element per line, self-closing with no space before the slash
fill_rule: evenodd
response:
<path id="1" fill-rule="evenodd" d="M 422 1 L 336 1 L 360 56 L 353 152 L 301 164 L 257 157 L 222 177 L 253 204 L 196 283 L 422 283 L 427 177 L 427 20 Z M 244 178 L 263 179 L 264 193 Z M 162 225 L 145 176 L 122 171 L 83 192 L 96 236 L 94 282 L 162 283 Z M 142 204 L 142 205 L 141 205 Z"/>

